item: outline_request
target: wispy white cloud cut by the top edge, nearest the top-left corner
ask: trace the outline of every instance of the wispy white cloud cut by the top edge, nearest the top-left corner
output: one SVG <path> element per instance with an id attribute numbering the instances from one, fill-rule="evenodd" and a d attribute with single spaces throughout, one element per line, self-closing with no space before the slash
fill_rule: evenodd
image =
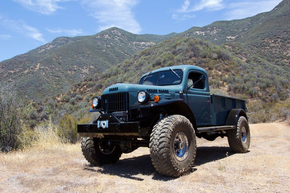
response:
<path id="1" fill-rule="evenodd" d="M 36 11 L 42 14 L 51 14 L 57 9 L 62 9 L 58 2 L 61 1 L 70 1 L 70 0 L 12 0 L 17 3 L 20 3 L 22 6 L 26 7 L 29 10 Z"/>

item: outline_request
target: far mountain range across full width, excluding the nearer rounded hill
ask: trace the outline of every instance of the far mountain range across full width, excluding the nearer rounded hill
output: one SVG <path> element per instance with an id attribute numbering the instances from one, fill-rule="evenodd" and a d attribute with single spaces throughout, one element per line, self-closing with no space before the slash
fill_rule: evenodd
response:
<path id="1" fill-rule="evenodd" d="M 278 74 L 273 72 L 274 64 L 285 74 L 290 67 L 289 2 L 284 0 L 273 10 L 253 17 L 216 21 L 182 33 L 138 35 L 113 27 L 95 35 L 57 37 L 43 46 L 0 62 L 0 78 L 3 83 L 18 82 L 22 88 L 20 95 L 28 99 L 56 97 L 70 92 L 75 83 L 88 75 L 105 72 L 130 56 L 137 57 L 137 52 L 172 37 L 209 40 L 226 46 L 232 54 L 253 66 L 261 65 Z"/>

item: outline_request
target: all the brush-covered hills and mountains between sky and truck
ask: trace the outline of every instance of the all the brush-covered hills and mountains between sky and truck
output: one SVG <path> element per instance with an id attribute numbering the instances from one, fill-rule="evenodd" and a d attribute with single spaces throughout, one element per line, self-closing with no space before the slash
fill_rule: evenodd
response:
<path id="1" fill-rule="evenodd" d="M 59 37 L 0 62 L 0 78 L 18 82 L 19 94 L 34 109 L 30 126 L 66 112 L 81 119 L 104 88 L 183 64 L 205 68 L 212 93 L 248 99 L 251 123 L 285 120 L 290 118 L 289 17 L 290 1 L 284 0 L 269 12 L 182 33 L 136 35 L 110 28 Z"/>

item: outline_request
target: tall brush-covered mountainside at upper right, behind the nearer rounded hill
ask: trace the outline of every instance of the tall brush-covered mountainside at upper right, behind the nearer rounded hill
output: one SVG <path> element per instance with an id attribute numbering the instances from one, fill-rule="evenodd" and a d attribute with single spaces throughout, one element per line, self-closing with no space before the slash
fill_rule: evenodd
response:
<path id="1" fill-rule="evenodd" d="M 193 27 L 180 35 L 199 37 L 215 44 L 232 46 L 231 43 L 235 43 L 249 50 L 253 60 L 262 58 L 290 67 L 290 1 L 284 0 L 273 10 L 253 17 L 217 21 L 202 28 Z M 262 61 L 259 63 L 263 65 Z"/>

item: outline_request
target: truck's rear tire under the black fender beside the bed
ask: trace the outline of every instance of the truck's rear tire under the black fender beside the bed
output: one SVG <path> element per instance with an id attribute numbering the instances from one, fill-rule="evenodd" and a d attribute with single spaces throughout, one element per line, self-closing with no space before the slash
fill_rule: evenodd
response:
<path id="1" fill-rule="evenodd" d="M 250 128 L 245 117 L 238 119 L 236 129 L 228 130 L 228 142 L 231 150 L 236 153 L 246 153 L 250 147 Z"/>

